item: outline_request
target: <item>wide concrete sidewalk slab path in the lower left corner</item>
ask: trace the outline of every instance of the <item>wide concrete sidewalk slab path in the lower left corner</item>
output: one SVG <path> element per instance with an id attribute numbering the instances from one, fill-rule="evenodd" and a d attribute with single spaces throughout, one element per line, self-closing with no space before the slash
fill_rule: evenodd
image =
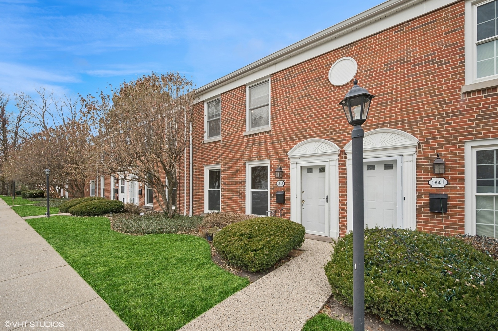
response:
<path id="1" fill-rule="evenodd" d="M 0 261 L 1 330 L 129 330 L 85 280 L 1 199 Z"/>

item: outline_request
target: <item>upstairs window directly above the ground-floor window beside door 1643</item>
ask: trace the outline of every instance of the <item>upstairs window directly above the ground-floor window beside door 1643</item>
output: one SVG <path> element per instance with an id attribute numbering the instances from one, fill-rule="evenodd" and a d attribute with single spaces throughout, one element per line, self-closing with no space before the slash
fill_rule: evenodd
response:
<path id="1" fill-rule="evenodd" d="M 270 82 L 248 88 L 248 131 L 270 126 Z"/>

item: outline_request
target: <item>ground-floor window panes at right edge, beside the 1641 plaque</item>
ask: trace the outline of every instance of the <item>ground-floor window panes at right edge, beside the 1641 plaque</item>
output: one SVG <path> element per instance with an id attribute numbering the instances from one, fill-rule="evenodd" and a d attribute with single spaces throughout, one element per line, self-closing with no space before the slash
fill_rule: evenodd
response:
<path id="1" fill-rule="evenodd" d="M 476 234 L 498 238 L 498 150 L 476 151 Z"/>

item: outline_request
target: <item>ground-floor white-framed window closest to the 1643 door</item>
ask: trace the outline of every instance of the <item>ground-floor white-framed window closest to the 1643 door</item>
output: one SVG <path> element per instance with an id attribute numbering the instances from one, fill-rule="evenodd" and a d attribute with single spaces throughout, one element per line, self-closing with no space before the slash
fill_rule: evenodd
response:
<path id="1" fill-rule="evenodd" d="M 246 168 L 246 213 L 266 215 L 269 207 L 269 164 L 250 162 Z"/>

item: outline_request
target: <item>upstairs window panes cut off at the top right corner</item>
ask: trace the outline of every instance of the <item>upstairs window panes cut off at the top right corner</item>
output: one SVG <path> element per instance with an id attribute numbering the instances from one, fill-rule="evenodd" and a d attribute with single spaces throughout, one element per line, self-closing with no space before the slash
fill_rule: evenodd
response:
<path id="1" fill-rule="evenodd" d="M 477 6 L 477 79 L 498 74 L 498 1 Z"/>

